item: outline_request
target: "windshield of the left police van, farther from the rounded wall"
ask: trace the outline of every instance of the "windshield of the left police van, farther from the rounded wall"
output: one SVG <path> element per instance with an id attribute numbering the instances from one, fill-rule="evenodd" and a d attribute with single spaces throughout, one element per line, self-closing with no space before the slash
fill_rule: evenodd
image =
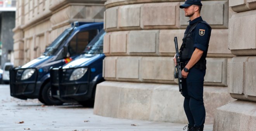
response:
<path id="1" fill-rule="evenodd" d="M 74 28 L 68 28 L 66 30 L 64 30 L 64 32 L 62 32 L 61 35 L 59 35 L 59 37 L 57 37 L 52 44 L 50 44 L 46 49 L 45 52 L 43 53 L 43 55 L 54 55 L 54 53 L 58 50 L 58 48 L 61 46 L 62 42 L 64 42 L 67 37 L 69 36 L 69 34 L 71 33 L 71 31 Z"/>

